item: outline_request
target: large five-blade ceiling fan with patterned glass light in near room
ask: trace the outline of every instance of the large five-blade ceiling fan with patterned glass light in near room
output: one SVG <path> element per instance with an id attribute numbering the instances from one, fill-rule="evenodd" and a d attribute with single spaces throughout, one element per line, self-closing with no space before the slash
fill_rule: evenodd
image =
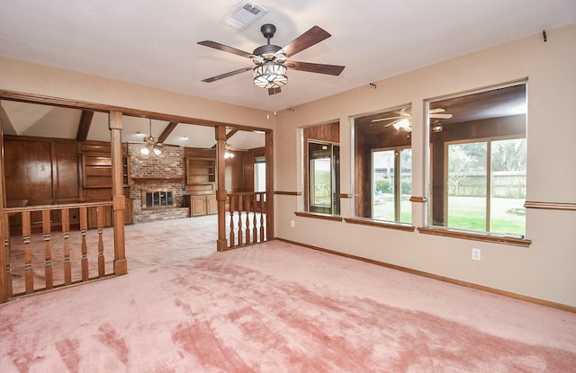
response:
<path id="1" fill-rule="evenodd" d="M 252 70 L 254 84 L 261 88 L 267 88 L 268 94 L 280 93 L 280 87 L 288 83 L 287 69 L 306 71 L 309 73 L 340 75 L 344 70 L 343 66 L 315 64 L 311 62 L 289 61 L 287 58 L 308 49 L 322 40 L 328 39 L 331 35 L 319 26 L 312 27 L 301 36 L 291 41 L 284 48 L 270 44 L 270 39 L 274 37 L 276 27 L 274 24 L 266 23 L 260 28 L 262 35 L 267 40 L 266 45 L 262 45 L 254 52 L 248 53 L 240 49 L 235 49 L 216 41 L 204 40 L 198 44 L 204 47 L 219 49 L 241 57 L 252 59 L 256 67 L 249 66 L 203 79 L 202 82 L 211 83 L 225 77 L 238 75 L 248 70 Z"/>

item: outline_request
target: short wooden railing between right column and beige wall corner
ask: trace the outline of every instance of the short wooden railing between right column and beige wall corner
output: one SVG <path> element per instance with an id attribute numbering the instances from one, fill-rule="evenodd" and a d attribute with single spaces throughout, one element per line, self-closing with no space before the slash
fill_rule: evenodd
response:
<path id="1" fill-rule="evenodd" d="M 228 193 L 228 247 L 265 242 L 267 239 L 266 192 Z"/>

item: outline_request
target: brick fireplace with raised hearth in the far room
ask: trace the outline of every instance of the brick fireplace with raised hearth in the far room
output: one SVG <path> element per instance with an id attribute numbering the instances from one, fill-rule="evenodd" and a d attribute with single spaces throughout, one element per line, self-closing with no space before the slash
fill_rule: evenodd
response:
<path id="1" fill-rule="evenodd" d="M 142 155 L 139 149 L 143 146 L 128 144 L 134 223 L 187 218 L 184 147 L 163 146 L 161 155 Z"/>

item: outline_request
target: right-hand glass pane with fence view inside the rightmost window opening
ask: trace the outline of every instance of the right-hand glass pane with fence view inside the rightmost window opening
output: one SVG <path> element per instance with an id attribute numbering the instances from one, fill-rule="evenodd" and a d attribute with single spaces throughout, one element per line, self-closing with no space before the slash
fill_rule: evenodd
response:
<path id="1" fill-rule="evenodd" d="M 526 234 L 526 138 L 491 143 L 491 232 Z"/>

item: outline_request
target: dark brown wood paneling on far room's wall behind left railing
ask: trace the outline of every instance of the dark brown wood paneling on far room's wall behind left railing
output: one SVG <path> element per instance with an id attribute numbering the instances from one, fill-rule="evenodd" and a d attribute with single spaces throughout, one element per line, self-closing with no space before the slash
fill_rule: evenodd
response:
<path id="1" fill-rule="evenodd" d="M 112 200 L 110 144 L 13 136 L 5 136 L 4 144 L 8 207 Z M 127 167 L 123 170 L 129 172 Z M 123 175 L 122 180 L 130 180 L 128 174 Z M 70 213 L 76 220 L 78 211 L 72 210 Z M 106 217 L 109 214 L 112 214 L 112 209 L 106 213 Z M 131 207 L 127 207 L 127 224 L 133 221 L 132 214 Z M 53 225 L 59 225 L 60 211 L 52 210 L 50 220 Z M 90 223 L 90 227 L 96 224 L 95 217 L 93 220 L 94 224 Z M 106 220 L 106 226 L 110 225 L 109 220 Z M 39 211 L 31 211 L 30 223 L 34 227 L 41 225 Z M 22 224 L 19 214 L 10 218 L 10 226 L 19 227 Z"/>

